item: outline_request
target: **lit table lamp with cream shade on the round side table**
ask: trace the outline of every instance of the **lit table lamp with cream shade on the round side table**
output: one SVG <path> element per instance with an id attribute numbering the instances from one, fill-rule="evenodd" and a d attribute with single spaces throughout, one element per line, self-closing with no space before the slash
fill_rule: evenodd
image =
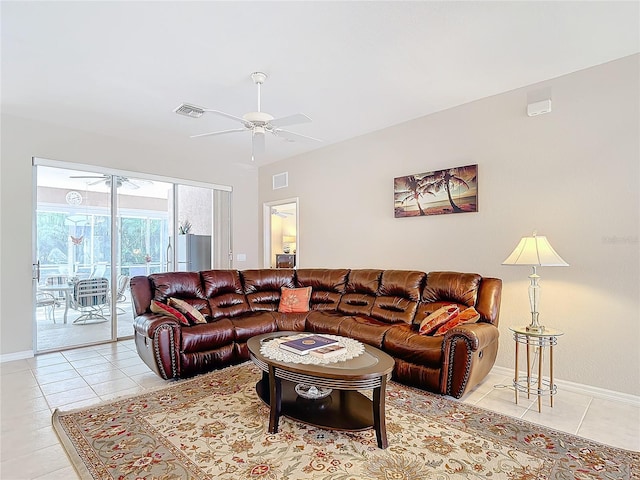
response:
<path id="1" fill-rule="evenodd" d="M 537 267 L 568 267 L 560 255 L 553 249 L 547 237 L 533 232 L 532 237 L 522 237 L 518 246 L 511 252 L 511 255 L 502 262 L 503 265 L 528 265 L 533 268 L 529 275 L 531 284 L 529 285 L 529 304 L 531 305 L 531 324 L 527 326 L 527 331 L 533 333 L 544 332 L 544 326 L 538 320 L 538 304 L 540 302 L 540 276 L 536 272 Z"/>

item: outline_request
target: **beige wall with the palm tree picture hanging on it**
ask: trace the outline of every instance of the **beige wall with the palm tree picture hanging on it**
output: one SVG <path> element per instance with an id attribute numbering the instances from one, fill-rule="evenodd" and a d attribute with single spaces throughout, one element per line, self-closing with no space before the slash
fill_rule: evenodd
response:
<path id="1" fill-rule="evenodd" d="M 533 230 L 547 235 L 571 265 L 539 269 L 541 321 L 565 332 L 556 376 L 640 395 L 639 59 L 262 167 L 259 201 L 299 197 L 302 268 L 459 270 L 502 278 L 497 365 L 506 368 L 513 368 L 514 355 L 508 327 L 530 320 L 530 271 L 501 263 L 520 237 Z M 553 111 L 528 117 L 528 95 L 539 91 L 551 92 Z M 478 213 L 393 217 L 394 177 L 476 163 Z M 273 191 L 272 175 L 284 171 L 289 187 Z"/>

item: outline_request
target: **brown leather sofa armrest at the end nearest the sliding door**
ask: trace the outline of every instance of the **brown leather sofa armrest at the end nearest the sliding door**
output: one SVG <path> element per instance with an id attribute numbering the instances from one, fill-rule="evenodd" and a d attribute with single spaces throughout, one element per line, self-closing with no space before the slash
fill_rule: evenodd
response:
<path id="1" fill-rule="evenodd" d="M 168 315 L 144 313 L 133 322 L 136 349 L 160 377 L 180 376 L 180 323 Z"/>

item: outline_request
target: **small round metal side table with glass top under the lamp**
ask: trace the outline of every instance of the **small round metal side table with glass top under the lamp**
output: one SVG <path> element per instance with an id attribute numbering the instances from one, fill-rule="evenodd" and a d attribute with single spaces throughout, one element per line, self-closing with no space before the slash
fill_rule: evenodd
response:
<path id="1" fill-rule="evenodd" d="M 527 330 L 526 326 L 509 327 L 513 332 L 513 339 L 516 342 L 516 361 L 515 376 L 513 378 L 513 387 L 516 394 L 516 404 L 518 403 L 519 392 L 526 393 L 527 398 L 531 395 L 538 397 L 538 412 L 542 411 L 542 397 L 549 395 L 550 404 L 553 408 L 553 396 L 557 392 L 556 384 L 553 383 L 553 347 L 558 343 L 558 337 L 564 335 L 560 330 L 544 327 L 542 332 L 534 332 Z M 526 378 L 520 379 L 518 371 L 519 346 L 526 346 L 527 354 L 527 374 Z M 542 377 L 544 365 L 544 349 L 549 348 L 549 378 Z M 533 363 L 531 361 L 531 350 L 538 355 L 538 375 L 532 373 Z"/>

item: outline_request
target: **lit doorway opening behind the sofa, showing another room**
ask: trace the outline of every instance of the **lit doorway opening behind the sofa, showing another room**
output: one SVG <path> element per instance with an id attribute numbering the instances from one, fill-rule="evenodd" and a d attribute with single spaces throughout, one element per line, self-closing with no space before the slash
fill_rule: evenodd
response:
<path id="1" fill-rule="evenodd" d="M 296 268 L 300 264 L 298 199 L 268 202 L 264 216 L 264 268 Z"/>

